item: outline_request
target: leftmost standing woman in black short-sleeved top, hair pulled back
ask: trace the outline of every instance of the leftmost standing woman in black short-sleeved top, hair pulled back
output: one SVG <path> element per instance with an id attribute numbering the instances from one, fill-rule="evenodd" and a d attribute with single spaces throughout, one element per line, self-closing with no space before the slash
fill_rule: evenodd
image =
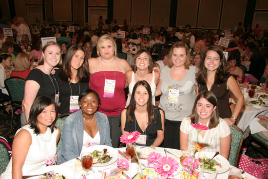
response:
<path id="1" fill-rule="evenodd" d="M 39 64 L 26 78 L 24 89 L 24 114 L 20 116 L 21 125 L 25 125 L 29 119 L 29 112 L 34 100 L 42 95 L 55 99 L 57 105 L 59 99 L 59 87 L 51 70 L 61 61 L 60 46 L 55 42 L 47 42 L 42 49 L 42 57 Z M 26 119 L 25 119 L 26 118 Z"/>

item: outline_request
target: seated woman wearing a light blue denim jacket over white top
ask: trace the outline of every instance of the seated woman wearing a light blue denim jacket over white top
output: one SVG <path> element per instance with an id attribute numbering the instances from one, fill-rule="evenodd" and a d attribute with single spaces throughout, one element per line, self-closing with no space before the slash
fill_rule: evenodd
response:
<path id="1" fill-rule="evenodd" d="M 87 89 L 80 94 L 78 100 L 81 109 L 72 113 L 63 127 L 57 164 L 79 157 L 88 146 L 112 146 L 107 116 L 97 112 L 100 99 L 96 91 Z"/>

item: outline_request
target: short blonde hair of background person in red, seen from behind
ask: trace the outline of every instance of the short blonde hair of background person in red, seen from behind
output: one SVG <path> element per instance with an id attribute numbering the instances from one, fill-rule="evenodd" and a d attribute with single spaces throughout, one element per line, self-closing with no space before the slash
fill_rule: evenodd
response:
<path id="1" fill-rule="evenodd" d="M 20 53 L 17 55 L 14 71 L 23 72 L 30 68 L 29 55 L 26 53 Z"/>

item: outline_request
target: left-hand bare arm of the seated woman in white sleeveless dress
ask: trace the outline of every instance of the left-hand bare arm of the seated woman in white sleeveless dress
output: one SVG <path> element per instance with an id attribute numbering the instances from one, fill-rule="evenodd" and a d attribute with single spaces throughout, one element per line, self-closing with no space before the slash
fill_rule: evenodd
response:
<path id="1" fill-rule="evenodd" d="M 31 134 L 21 130 L 15 136 L 12 144 L 12 179 L 22 178 L 22 167 L 32 143 Z"/>

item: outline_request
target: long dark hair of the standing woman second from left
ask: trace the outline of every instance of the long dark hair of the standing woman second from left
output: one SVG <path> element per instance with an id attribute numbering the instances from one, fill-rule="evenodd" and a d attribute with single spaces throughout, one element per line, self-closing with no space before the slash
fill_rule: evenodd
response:
<path id="1" fill-rule="evenodd" d="M 61 81 L 68 81 L 68 79 L 72 79 L 72 71 L 71 71 L 71 60 L 75 55 L 77 50 L 81 50 L 85 54 L 84 62 L 80 68 L 77 70 L 77 79 L 80 82 L 88 82 L 89 81 L 89 69 L 88 69 L 88 60 L 86 57 L 86 52 L 83 47 L 80 45 L 72 45 L 65 56 L 65 59 L 62 64 L 62 68 L 58 74 L 58 78 Z"/>

